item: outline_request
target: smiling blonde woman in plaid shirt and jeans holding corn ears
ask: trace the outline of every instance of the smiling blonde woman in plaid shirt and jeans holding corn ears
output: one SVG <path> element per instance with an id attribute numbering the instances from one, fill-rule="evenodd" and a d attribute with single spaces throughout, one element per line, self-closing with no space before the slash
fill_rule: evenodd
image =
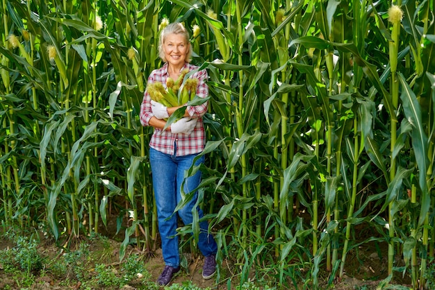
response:
<path id="1" fill-rule="evenodd" d="M 166 86 L 167 78 L 177 80 L 183 69 L 192 71 L 198 67 L 190 65 L 192 49 L 189 34 L 181 23 L 167 25 L 161 31 L 158 46 L 160 57 L 164 62 L 161 69 L 151 72 L 148 83 L 156 81 Z M 192 78 L 198 78 L 197 95 L 204 98 L 208 95 L 206 70 L 197 71 Z M 149 142 L 149 160 L 153 176 L 154 195 L 156 198 L 158 230 L 162 240 L 163 259 L 165 268 L 157 280 L 159 285 L 167 285 L 172 276 L 180 270 L 179 240 L 177 236 L 177 214 L 184 224 L 192 223 L 192 209 L 197 201 L 195 198 L 181 210 L 174 214 L 177 203 L 181 201 L 181 184 L 184 192 L 197 188 L 201 180 L 201 172 L 195 173 L 185 180 L 186 171 L 192 166 L 194 158 L 204 150 L 205 133 L 202 116 L 207 111 L 207 103 L 197 106 L 184 105 L 184 117 L 172 123 L 163 131 L 165 118 L 183 107 L 167 108 L 161 103 L 151 101 L 149 93 L 145 92 L 140 108 L 140 122 L 143 126 L 153 126 L 154 134 Z M 195 165 L 204 162 L 200 157 Z M 199 219 L 202 210 L 197 208 Z M 202 277 L 210 279 L 216 268 L 215 254 L 217 245 L 211 234 L 208 234 L 208 223 L 199 223 L 200 234 L 198 247 L 204 255 Z"/>

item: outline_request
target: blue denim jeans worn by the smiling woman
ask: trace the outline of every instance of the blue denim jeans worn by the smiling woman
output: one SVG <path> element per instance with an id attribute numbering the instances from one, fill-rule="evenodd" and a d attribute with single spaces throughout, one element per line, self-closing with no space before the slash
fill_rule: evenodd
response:
<path id="1" fill-rule="evenodd" d="M 197 202 L 197 192 L 189 203 L 174 214 L 175 207 L 181 201 L 181 184 L 185 179 L 186 171 L 192 165 L 197 155 L 176 156 L 161 153 L 149 148 L 149 160 L 153 176 L 154 196 L 156 198 L 158 231 L 162 240 L 163 259 L 167 266 L 177 267 L 180 264 L 179 239 L 177 236 L 177 214 L 185 225 L 192 223 L 192 210 Z M 204 156 L 196 160 L 195 165 L 204 163 Z M 187 194 L 197 188 L 201 181 L 201 171 L 190 176 L 183 185 Z M 199 219 L 203 212 L 197 207 Z M 204 257 L 215 254 L 217 245 L 213 236 L 208 233 L 207 221 L 199 223 L 198 248 Z"/>

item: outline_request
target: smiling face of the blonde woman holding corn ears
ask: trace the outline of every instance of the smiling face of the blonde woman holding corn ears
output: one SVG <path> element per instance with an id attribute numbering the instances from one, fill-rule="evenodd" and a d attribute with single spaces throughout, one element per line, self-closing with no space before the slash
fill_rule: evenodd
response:
<path id="1" fill-rule="evenodd" d="M 163 51 L 169 65 L 183 66 L 189 51 L 189 44 L 181 34 L 168 34 L 163 42 Z"/>

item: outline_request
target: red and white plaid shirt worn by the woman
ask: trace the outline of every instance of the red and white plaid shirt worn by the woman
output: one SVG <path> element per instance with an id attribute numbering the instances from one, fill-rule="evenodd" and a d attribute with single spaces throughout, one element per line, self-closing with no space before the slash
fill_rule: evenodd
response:
<path id="1" fill-rule="evenodd" d="M 189 69 L 192 71 L 198 67 L 190 65 L 188 62 L 183 66 L 183 69 Z M 167 72 L 167 63 L 161 67 L 161 69 L 155 69 L 148 77 L 148 83 L 161 82 L 166 87 L 166 80 L 169 77 Z M 190 76 L 191 78 L 198 78 L 197 95 L 205 98 L 208 96 L 208 86 L 206 80 L 208 78 L 207 71 L 197 71 Z M 207 102 L 202 105 L 188 106 L 187 111 L 190 117 L 197 118 L 197 126 L 193 130 L 192 134 L 172 134 L 169 130 L 162 131 L 161 129 L 154 128 L 154 133 L 151 136 L 149 146 L 165 154 L 174 155 L 175 144 L 177 144 L 177 156 L 184 156 L 202 152 L 206 143 L 206 137 L 204 132 L 204 123 L 202 122 L 202 116 L 207 112 Z M 149 93 L 145 90 L 142 105 L 140 105 L 140 123 L 142 126 L 149 126 L 149 119 L 154 114 L 151 112 L 151 98 Z"/>

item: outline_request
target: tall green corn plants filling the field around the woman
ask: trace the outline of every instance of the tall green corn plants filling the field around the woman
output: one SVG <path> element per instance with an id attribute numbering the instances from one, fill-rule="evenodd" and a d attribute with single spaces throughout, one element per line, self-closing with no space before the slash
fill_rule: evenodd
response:
<path id="1" fill-rule="evenodd" d="M 240 282 L 254 271 L 317 287 L 320 271 L 332 283 L 352 249 L 376 242 L 386 283 L 425 287 L 434 1 L 0 1 L 3 230 L 65 242 L 115 216 L 121 259 L 130 244 L 156 249 L 152 128 L 138 112 L 162 65 L 161 23 L 177 21 L 210 77 L 206 163 L 188 173 L 203 172 L 218 262 L 231 257 Z M 180 234 L 197 237 L 197 222 Z"/>

